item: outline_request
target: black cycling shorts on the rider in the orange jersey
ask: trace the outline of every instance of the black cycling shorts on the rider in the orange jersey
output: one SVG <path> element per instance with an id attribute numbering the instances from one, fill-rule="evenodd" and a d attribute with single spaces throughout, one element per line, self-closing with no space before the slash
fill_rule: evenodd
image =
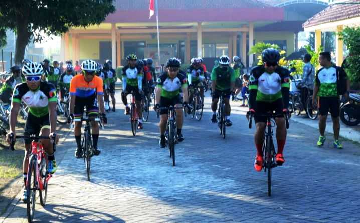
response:
<path id="1" fill-rule="evenodd" d="M 86 116 L 91 117 L 99 115 L 99 105 L 97 103 L 96 94 L 93 94 L 87 98 L 75 97 L 74 117 L 82 118 L 85 107 Z"/>

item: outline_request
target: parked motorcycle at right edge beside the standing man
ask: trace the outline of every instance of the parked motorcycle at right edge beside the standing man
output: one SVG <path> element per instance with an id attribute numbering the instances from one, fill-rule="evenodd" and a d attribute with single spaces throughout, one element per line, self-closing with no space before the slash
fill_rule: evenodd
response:
<path id="1" fill-rule="evenodd" d="M 340 119 L 348 126 L 360 124 L 360 95 L 350 94 L 349 100 L 340 107 Z"/>

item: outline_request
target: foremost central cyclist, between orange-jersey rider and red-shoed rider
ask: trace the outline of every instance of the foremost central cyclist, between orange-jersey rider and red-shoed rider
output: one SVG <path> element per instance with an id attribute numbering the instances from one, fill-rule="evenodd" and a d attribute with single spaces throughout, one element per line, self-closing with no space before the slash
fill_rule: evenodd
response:
<path id="1" fill-rule="evenodd" d="M 167 72 L 164 72 L 157 79 L 156 86 L 156 102 L 155 110 L 160 107 L 180 107 L 182 105 L 180 98 L 180 89 L 183 90 L 184 106 L 188 106 L 188 85 L 186 77 L 179 73 L 180 61 L 177 58 L 170 58 L 166 62 Z M 160 141 L 159 146 L 164 148 L 166 146 L 165 131 L 168 119 L 168 110 L 160 110 Z M 182 135 L 183 127 L 183 110 L 181 108 L 176 109 L 176 125 L 177 125 L 177 140 L 182 142 L 184 136 Z"/>

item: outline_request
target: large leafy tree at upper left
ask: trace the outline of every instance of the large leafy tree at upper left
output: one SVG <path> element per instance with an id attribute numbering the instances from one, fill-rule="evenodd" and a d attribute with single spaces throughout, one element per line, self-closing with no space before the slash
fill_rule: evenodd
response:
<path id="1" fill-rule="evenodd" d="M 71 27 L 100 24 L 115 12 L 112 0 L 2 0 L 0 2 L 0 45 L 5 29 L 17 34 L 15 64 L 24 58 L 31 38 L 41 42 L 43 35 L 60 36 Z"/>

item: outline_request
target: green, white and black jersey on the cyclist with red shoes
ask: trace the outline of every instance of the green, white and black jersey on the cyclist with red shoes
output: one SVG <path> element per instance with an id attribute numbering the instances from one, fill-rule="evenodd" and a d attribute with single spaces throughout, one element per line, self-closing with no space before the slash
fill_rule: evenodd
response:
<path id="1" fill-rule="evenodd" d="M 251 70 L 249 78 L 249 108 L 257 101 L 272 103 L 283 100 L 284 108 L 289 107 L 290 72 L 278 66 L 274 73 L 267 73 L 264 66 Z"/>

